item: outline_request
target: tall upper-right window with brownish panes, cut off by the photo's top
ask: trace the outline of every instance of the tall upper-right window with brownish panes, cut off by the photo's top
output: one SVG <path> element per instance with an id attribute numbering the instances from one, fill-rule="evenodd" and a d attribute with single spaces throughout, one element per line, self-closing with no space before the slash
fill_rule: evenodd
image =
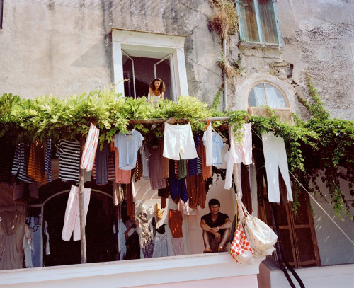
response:
<path id="1" fill-rule="evenodd" d="M 273 0 L 236 0 L 236 7 L 241 41 L 281 44 Z"/>

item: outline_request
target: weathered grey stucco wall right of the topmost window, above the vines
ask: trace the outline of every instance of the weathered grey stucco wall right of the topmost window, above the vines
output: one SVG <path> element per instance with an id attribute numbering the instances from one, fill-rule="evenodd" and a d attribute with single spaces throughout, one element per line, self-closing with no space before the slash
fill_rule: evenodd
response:
<path id="1" fill-rule="evenodd" d="M 284 49 L 293 64 L 292 79 L 306 96 L 304 71 L 331 113 L 354 119 L 354 2 L 348 0 L 276 1 Z"/>

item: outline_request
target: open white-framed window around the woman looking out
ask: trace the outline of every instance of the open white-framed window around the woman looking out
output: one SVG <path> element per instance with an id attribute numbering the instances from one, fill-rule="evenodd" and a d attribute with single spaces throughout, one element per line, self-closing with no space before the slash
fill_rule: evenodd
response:
<path id="1" fill-rule="evenodd" d="M 114 81 L 124 96 L 147 96 L 149 83 L 161 78 L 164 97 L 188 95 L 184 42 L 186 36 L 112 29 Z M 130 82 L 122 82 L 130 79 Z"/>

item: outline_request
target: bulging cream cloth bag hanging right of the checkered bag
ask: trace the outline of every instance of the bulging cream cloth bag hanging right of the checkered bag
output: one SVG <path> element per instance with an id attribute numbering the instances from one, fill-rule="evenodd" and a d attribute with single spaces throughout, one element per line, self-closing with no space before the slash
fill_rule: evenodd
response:
<path id="1" fill-rule="evenodd" d="M 244 231 L 255 255 L 270 255 L 275 250 L 274 244 L 278 241 L 277 234 L 274 233 L 261 219 L 252 216 L 247 211 L 241 199 L 238 199 L 239 208 L 244 215 Z"/>

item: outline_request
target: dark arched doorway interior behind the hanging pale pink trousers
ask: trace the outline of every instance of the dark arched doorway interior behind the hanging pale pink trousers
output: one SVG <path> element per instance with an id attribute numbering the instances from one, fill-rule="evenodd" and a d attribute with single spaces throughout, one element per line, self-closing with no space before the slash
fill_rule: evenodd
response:
<path id="1" fill-rule="evenodd" d="M 50 234 L 50 255 L 45 255 L 45 265 L 70 265 L 81 263 L 81 241 L 62 240 L 64 214 L 69 192 L 57 195 L 44 207 L 44 219 Z M 113 200 L 99 192 L 91 191 L 86 218 L 87 262 L 115 260 L 116 241 L 113 236 L 115 211 Z"/>

